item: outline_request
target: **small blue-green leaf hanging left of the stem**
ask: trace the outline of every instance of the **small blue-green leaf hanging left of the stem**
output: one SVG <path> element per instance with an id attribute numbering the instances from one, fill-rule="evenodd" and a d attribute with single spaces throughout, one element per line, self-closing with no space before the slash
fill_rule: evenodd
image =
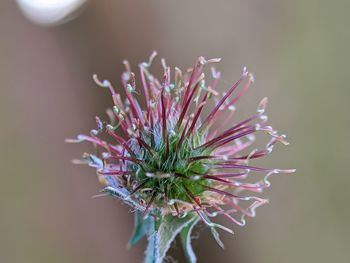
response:
<path id="1" fill-rule="evenodd" d="M 129 240 L 128 248 L 133 247 L 147 234 L 151 234 L 150 231 L 154 229 L 154 219 L 149 216 L 143 218 L 143 213 L 135 211 L 135 227 L 134 232 Z M 154 230 L 153 230 L 154 231 Z"/>

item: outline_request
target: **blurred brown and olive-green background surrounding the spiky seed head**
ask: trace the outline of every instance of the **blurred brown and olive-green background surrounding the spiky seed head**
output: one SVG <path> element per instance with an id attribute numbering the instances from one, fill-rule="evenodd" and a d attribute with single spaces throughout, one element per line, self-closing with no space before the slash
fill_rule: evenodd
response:
<path id="1" fill-rule="evenodd" d="M 268 96 L 270 123 L 291 142 L 264 165 L 297 169 L 272 179 L 257 218 L 222 234 L 225 250 L 199 228 L 199 262 L 348 262 L 349 10 L 341 0 L 0 1 L 0 262 L 142 262 L 145 242 L 126 248 L 129 208 L 91 198 L 94 170 L 70 162 L 90 147 L 64 139 L 112 103 L 91 75 L 119 83 L 123 59 L 135 69 L 153 50 L 184 69 L 222 57 L 222 90 L 248 66 L 256 83 L 240 112 Z M 179 243 L 171 255 L 184 262 Z"/>

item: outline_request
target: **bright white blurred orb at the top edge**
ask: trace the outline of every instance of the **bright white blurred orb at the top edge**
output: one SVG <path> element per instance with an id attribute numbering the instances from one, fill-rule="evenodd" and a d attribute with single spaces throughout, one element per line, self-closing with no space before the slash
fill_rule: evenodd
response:
<path id="1" fill-rule="evenodd" d="M 86 0 L 17 0 L 23 14 L 44 26 L 63 24 L 75 18 Z"/>

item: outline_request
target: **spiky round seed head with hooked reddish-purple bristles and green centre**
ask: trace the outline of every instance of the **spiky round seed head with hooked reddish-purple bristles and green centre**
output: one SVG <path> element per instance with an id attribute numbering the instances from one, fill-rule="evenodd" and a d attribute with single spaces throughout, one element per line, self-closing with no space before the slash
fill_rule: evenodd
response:
<path id="1" fill-rule="evenodd" d="M 109 81 L 93 76 L 97 85 L 109 89 L 114 105 L 107 110 L 109 122 L 96 117 L 97 128 L 89 135 L 68 140 L 87 141 L 96 148 L 95 154 L 85 153 L 83 160 L 75 162 L 96 168 L 102 191 L 136 211 L 137 227 L 146 224 L 148 218 L 155 222 L 154 233 L 160 233 L 159 222 L 174 225 L 176 221 L 181 227 L 174 230 L 175 237 L 202 220 L 222 246 L 215 229 L 232 230 L 213 223 L 212 218 L 223 215 L 243 226 L 245 217 L 254 217 L 255 209 L 268 202 L 254 193 L 270 186 L 268 178 L 272 174 L 294 170 L 261 168 L 249 162 L 270 154 L 277 142 L 288 143 L 285 135 L 266 124 L 267 98 L 250 118 L 233 118 L 237 101 L 254 81 L 246 68 L 238 81 L 220 95 L 216 90 L 220 73 L 211 67 L 211 80 L 204 75 L 205 67 L 220 59 L 200 57 L 186 73 L 175 67 L 173 80 L 170 67 L 162 59 L 164 74 L 158 80 L 150 72 L 155 56 L 154 52 L 148 62 L 139 65 L 142 89 L 136 86 L 135 74 L 124 61 L 121 86 L 125 100 Z M 144 107 L 137 99 L 141 93 Z M 253 147 L 258 133 L 270 137 L 263 149 Z M 256 178 L 255 173 L 263 176 L 249 182 L 247 178 L 250 174 Z M 136 241 L 140 236 L 154 235 L 149 230 L 141 234 L 137 231 Z"/>

